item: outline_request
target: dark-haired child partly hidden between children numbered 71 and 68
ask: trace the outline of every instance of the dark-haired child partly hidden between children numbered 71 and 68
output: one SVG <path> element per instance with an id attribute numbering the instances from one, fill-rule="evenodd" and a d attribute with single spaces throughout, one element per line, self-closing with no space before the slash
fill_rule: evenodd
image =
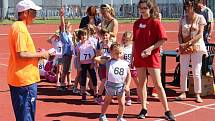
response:
<path id="1" fill-rule="evenodd" d="M 102 40 L 97 46 L 97 56 L 110 57 L 110 33 L 107 29 L 101 29 L 100 34 L 102 36 Z M 98 104 L 103 104 L 104 101 L 102 99 L 102 93 L 104 91 L 104 84 L 106 81 L 106 66 L 104 64 L 99 64 L 98 73 L 101 84 L 99 86 L 99 92 L 95 102 Z"/>

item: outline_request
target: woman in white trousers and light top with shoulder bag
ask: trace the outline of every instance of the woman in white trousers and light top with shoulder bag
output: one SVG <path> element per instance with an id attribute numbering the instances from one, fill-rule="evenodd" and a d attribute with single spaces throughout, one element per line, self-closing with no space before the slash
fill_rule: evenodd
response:
<path id="1" fill-rule="evenodd" d="M 201 103 L 203 102 L 200 97 L 202 55 L 207 54 L 203 41 L 203 31 L 206 21 L 202 15 L 195 13 L 194 0 L 187 0 L 184 3 L 184 11 L 185 15 L 179 21 L 178 33 L 181 69 L 180 85 L 182 93 L 176 99 L 183 100 L 186 98 L 187 74 L 191 60 L 196 101 Z M 193 47 L 194 52 L 189 52 L 190 47 Z"/>

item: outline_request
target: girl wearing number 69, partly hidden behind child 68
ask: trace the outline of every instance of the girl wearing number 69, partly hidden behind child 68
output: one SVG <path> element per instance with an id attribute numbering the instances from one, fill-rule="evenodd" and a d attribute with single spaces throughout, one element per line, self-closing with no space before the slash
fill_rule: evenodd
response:
<path id="1" fill-rule="evenodd" d="M 122 35 L 122 45 L 123 45 L 123 58 L 124 60 L 126 60 L 129 63 L 129 67 L 130 67 L 130 71 L 131 71 L 131 77 L 134 80 L 134 83 L 136 84 L 136 86 L 138 87 L 138 78 L 137 78 L 137 71 L 135 69 L 135 67 L 132 67 L 131 65 L 131 59 L 133 58 L 132 56 L 132 33 L 127 31 Z M 139 91 L 137 88 L 137 101 L 140 101 L 140 97 L 139 97 Z M 130 106 L 131 105 L 131 98 L 130 98 L 130 90 L 128 92 L 126 92 L 126 105 Z"/>

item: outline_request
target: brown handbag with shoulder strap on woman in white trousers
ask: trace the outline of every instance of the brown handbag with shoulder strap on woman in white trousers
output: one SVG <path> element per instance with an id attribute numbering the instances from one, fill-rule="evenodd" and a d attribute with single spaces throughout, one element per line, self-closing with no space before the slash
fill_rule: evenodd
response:
<path id="1" fill-rule="evenodd" d="M 191 31 L 192 31 L 192 28 L 193 28 L 193 22 L 194 22 L 195 18 L 192 20 L 192 23 L 191 23 L 191 27 L 190 27 L 190 31 L 189 31 L 189 35 L 186 36 L 186 37 L 182 37 L 182 42 L 183 43 L 187 43 L 185 46 L 179 46 L 179 51 L 181 54 L 191 54 L 193 52 L 196 52 L 197 49 L 195 48 L 194 45 L 192 45 L 192 43 L 189 43 L 189 41 L 192 39 L 191 38 Z"/>

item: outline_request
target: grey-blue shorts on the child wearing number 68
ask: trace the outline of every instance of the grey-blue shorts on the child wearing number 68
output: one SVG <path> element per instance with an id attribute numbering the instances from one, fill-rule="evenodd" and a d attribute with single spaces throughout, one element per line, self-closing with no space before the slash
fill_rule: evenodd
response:
<path id="1" fill-rule="evenodd" d="M 114 83 L 106 81 L 105 84 L 105 95 L 107 96 L 123 96 L 125 93 L 123 83 Z"/>

